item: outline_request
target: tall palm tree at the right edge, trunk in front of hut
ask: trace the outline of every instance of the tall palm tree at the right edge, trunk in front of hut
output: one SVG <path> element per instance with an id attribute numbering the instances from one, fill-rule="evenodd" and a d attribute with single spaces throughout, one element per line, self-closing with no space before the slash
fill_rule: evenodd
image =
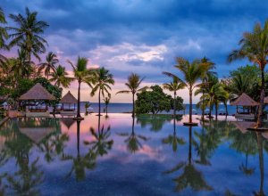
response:
<path id="1" fill-rule="evenodd" d="M 267 64 L 268 57 L 268 20 L 265 21 L 264 29 L 260 23 L 255 24 L 253 32 L 246 32 L 239 41 L 239 49 L 233 50 L 228 61 L 234 61 L 247 58 L 259 66 L 262 72 L 262 86 L 260 94 L 260 106 L 258 109 L 258 118 L 256 127 L 263 126 L 263 111 L 264 111 L 264 68 Z"/>

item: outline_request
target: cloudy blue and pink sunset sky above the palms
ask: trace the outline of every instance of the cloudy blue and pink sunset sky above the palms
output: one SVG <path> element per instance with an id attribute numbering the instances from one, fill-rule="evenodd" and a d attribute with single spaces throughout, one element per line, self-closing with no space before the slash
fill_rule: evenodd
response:
<path id="1" fill-rule="evenodd" d="M 144 86 L 170 82 L 162 72 L 174 68 L 175 57 L 193 61 L 209 58 L 216 63 L 219 78 L 247 61 L 228 64 L 228 54 L 238 48 L 239 39 L 252 31 L 256 22 L 267 19 L 265 0 L 0 0 L 6 15 L 21 13 L 25 7 L 38 12 L 38 20 L 49 24 L 43 37 L 47 52 L 57 54 L 60 63 L 88 58 L 89 67 L 105 67 L 113 73 L 111 102 L 131 102 L 130 94 L 115 95 L 125 89 L 131 72 L 146 77 Z M 13 24 L 7 19 L 9 24 Z M 15 56 L 15 49 L 5 52 Z M 45 56 L 43 56 L 45 59 Z M 70 89 L 77 94 L 77 84 Z M 96 102 L 90 88 L 81 88 L 82 101 Z M 188 91 L 179 95 L 188 102 Z M 198 97 L 194 98 L 197 102 Z"/>

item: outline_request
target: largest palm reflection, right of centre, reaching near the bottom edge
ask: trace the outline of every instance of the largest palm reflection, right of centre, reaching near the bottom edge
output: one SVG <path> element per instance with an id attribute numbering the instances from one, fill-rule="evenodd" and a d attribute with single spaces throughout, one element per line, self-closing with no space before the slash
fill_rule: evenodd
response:
<path id="1" fill-rule="evenodd" d="M 188 127 L 188 162 L 180 162 L 171 170 L 165 171 L 164 174 L 172 174 L 182 169 L 182 174 L 173 178 L 176 183 L 175 191 L 181 192 L 188 186 L 194 191 L 210 191 L 213 188 L 206 184 L 204 177 L 192 163 L 192 127 Z"/>

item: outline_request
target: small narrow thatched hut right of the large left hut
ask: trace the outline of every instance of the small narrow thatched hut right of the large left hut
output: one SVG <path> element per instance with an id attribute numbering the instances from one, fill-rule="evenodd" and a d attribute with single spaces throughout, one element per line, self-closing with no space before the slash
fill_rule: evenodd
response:
<path id="1" fill-rule="evenodd" d="M 69 91 L 67 94 L 65 94 L 63 96 L 63 98 L 61 100 L 61 103 L 62 103 L 61 114 L 63 114 L 63 115 L 75 115 L 75 113 L 76 113 L 75 105 L 77 102 L 78 102 L 77 99 Z M 66 108 L 66 105 L 68 105 L 67 108 Z M 71 107 L 71 106 L 73 106 L 73 107 Z"/>

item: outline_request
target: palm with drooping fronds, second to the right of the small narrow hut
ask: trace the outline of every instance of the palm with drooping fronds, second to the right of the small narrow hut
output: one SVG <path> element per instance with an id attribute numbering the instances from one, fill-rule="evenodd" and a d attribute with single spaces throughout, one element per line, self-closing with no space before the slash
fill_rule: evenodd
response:
<path id="1" fill-rule="evenodd" d="M 112 90 L 112 88 L 109 85 L 114 85 L 113 74 L 111 74 L 109 70 L 105 68 L 96 69 L 96 71 L 94 71 L 93 79 L 96 83 L 96 86 L 92 88 L 91 96 L 94 96 L 96 94 L 96 91 L 98 90 L 98 115 L 100 116 L 101 94 L 103 95 L 103 97 L 105 97 L 106 93 L 108 94 L 108 97 L 111 97 L 109 90 Z"/>

